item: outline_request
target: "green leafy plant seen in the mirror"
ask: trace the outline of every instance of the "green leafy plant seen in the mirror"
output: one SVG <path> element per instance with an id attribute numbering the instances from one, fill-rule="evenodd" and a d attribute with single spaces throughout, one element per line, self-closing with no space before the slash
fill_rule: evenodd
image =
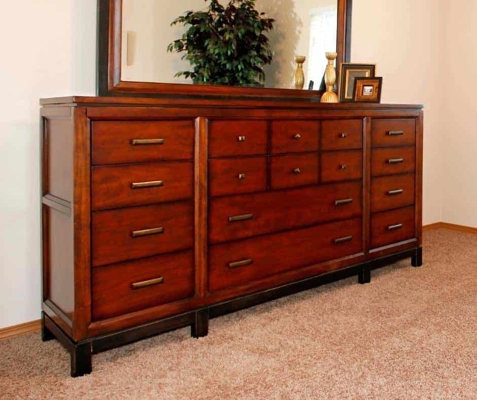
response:
<path id="1" fill-rule="evenodd" d="M 184 52 L 182 59 L 193 68 L 176 77 L 195 84 L 261 86 L 263 66 L 272 60 L 265 33 L 275 20 L 255 10 L 255 0 L 230 0 L 226 7 L 218 0 L 205 2 L 210 2 L 207 11 L 187 11 L 171 24 L 189 27 L 167 51 Z"/>

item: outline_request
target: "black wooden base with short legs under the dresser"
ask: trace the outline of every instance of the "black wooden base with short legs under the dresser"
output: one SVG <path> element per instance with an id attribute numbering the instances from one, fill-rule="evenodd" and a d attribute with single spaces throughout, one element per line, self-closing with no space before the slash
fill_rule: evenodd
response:
<path id="1" fill-rule="evenodd" d="M 82 342 L 73 342 L 56 323 L 42 313 L 42 340 L 47 341 L 56 338 L 71 355 L 71 376 L 79 377 L 91 373 L 92 354 L 106 351 L 118 346 L 123 346 L 141 339 L 146 339 L 167 331 L 185 326 L 191 327 L 191 336 L 201 338 L 207 336 L 209 319 L 219 317 L 244 308 L 256 306 L 289 294 L 312 289 L 327 283 L 350 278 L 358 275 L 358 282 L 369 283 L 371 270 L 381 268 L 396 261 L 412 258 L 413 266 L 422 265 L 422 248 L 406 250 L 378 258 L 359 265 L 349 266 L 342 270 L 333 271 L 317 277 L 293 282 L 277 288 L 249 294 L 233 300 L 212 305 L 205 309 L 193 310 L 184 314 L 148 322 L 139 326 L 123 329 L 111 334 L 87 339 Z"/>

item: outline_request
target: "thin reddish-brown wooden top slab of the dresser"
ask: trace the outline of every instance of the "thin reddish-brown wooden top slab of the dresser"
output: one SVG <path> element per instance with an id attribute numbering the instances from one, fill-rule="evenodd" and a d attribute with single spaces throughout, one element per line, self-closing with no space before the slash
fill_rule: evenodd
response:
<path id="1" fill-rule="evenodd" d="M 190 107 L 190 108 L 264 108 L 264 109 L 320 109 L 320 110 L 419 110 L 419 104 L 371 104 L 371 103 L 334 103 L 318 101 L 283 102 L 255 99 L 220 99 L 220 98 L 152 98 L 152 97 L 96 97 L 67 96 L 40 99 L 43 107 L 79 105 L 88 107 Z"/>

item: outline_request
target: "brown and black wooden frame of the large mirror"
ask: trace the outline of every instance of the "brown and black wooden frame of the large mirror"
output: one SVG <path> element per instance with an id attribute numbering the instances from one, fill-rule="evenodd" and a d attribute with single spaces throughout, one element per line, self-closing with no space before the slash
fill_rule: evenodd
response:
<path id="1" fill-rule="evenodd" d="M 337 61 L 350 60 L 353 0 L 338 1 Z M 141 97 L 226 97 L 317 101 L 319 90 L 274 89 L 220 85 L 126 82 L 121 80 L 122 0 L 98 0 L 97 94 Z M 337 71 L 339 72 L 339 71 Z M 337 74 L 339 76 L 339 74 Z"/>

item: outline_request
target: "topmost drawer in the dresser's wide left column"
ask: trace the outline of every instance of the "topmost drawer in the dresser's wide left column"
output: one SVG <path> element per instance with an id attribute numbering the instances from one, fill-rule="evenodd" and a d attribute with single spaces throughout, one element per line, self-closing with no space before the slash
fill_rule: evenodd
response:
<path id="1" fill-rule="evenodd" d="M 193 157 L 193 121 L 92 122 L 92 164 L 187 160 Z"/>

